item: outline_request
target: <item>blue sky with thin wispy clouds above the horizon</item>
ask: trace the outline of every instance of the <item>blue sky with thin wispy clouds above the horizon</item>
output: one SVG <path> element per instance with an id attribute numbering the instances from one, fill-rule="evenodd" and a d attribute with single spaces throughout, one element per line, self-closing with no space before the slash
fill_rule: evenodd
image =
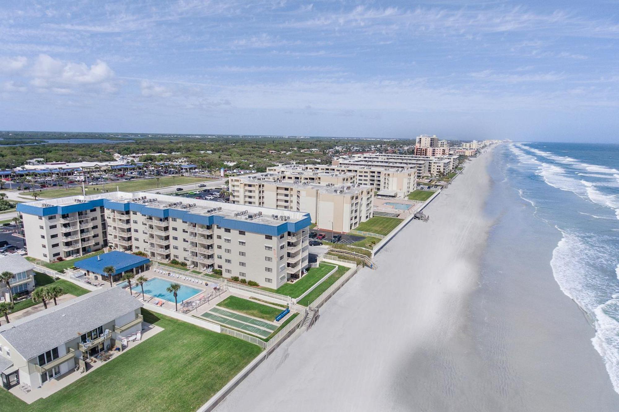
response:
<path id="1" fill-rule="evenodd" d="M 0 130 L 619 142 L 619 2 L 5 1 Z"/>

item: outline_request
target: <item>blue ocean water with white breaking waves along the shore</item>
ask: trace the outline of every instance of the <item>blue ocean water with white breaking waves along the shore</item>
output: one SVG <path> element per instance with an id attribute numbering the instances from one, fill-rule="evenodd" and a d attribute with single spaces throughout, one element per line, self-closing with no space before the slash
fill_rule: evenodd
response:
<path id="1" fill-rule="evenodd" d="M 496 155 L 530 213 L 560 235 L 553 277 L 594 328 L 619 393 L 619 145 L 513 143 Z"/>

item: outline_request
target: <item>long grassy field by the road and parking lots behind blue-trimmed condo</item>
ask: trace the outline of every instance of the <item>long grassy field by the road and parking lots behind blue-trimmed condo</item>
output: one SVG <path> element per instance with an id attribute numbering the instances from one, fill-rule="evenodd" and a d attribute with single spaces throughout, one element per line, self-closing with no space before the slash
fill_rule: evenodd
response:
<path id="1" fill-rule="evenodd" d="M 173 184 L 191 184 L 198 182 L 206 182 L 207 178 L 194 178 L 193 176 L 177 176 L 172 178 L 172 176 L 165 176 L 159 179 L 159 187 L 167 187 L 173 186 Z M 103 187 L 105 186 L 105 188 Z M 151 189 L 157 189 L 157 179 L 140 179 L 140 180 L 123 180 L 118 182 L 111 182 L 103 184 L 95 184 L 85 186 L 86 194 L 96 194 L 104 191 L 105 189 L 109 192 L 115 192 L 116 187 L 121 192 L 141 192 L 141 191 L 149 191 Z M 54 197 L 65 197 L 65 196 L 74 196 L 82 194 L 82 187 L 66 187 L 64 189 L 49 189 L 44 190 L 39 193 L 39 197 L 44 199 L 53 199 Z M 32 195 L 32 192 L 22 192 L 22 195 Z"/>

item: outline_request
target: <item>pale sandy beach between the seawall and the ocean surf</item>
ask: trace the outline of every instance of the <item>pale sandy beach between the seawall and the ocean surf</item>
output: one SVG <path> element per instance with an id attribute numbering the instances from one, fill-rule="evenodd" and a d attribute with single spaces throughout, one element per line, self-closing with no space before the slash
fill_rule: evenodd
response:
<path id="1" fill-rule="evenodd" d="M 428 223 L 402 230 L 378 270 L 361 270 L 217 410 L 617 410 L 578 307 L 552 273 L 523 275 L 552 247 L 503 247 L 524 254 L 516 273 L 484 258 L 507 213 L 486 211 L 492 159 L 470 162 Z"/>

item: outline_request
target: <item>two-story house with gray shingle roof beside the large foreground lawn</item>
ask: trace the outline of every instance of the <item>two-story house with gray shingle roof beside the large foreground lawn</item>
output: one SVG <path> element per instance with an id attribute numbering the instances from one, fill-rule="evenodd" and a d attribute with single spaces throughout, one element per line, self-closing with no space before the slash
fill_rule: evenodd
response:
<path id="1" fill-rule="evenodd" d="M 2 386 L 34 389 L 85 370 L 90 356 L 142 330 L 141 307 L 123 288 L 108 288 L 0 326 Z"/>

